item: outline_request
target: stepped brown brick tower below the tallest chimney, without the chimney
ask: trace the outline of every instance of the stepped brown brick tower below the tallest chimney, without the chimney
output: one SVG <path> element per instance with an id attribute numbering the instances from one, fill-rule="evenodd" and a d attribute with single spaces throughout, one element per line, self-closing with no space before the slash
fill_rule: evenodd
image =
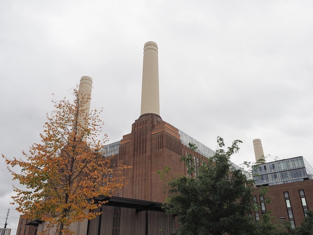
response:
<path id="1" fill-rule="evenodd" d="M 117 165 L 132 168 L 122 172 L 127 184 L 117 189 L 114 195 L 164 202 L 165 181 L 157 171 L 169 166 L 169 176 L 186 174 L 184 162 L 180 161 L 186 152 L 191 150 L 181 143 L 177 128 L 158 115 L 141 115 L 132 124 L 131 133 L 120 141 Z M 192 154 L 203 158 L 197 152 L 192 151 Z"/>

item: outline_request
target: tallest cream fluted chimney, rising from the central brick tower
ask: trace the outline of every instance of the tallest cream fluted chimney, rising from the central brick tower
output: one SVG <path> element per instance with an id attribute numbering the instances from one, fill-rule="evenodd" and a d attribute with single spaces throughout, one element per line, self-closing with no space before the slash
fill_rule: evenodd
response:
<path id="1" fill-rule="evenodd" d="M 159 115 L 157 44 L 148 41 L 143 47 L 143 69 L 140 115 Z"/>

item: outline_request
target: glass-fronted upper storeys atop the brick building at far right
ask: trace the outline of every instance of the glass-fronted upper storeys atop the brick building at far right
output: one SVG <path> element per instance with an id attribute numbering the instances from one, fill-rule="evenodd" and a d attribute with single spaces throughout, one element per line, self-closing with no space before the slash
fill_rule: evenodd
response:
<path id="1" fill-rule="evenodd" d="M 303 156 L 258 164 L 253 169 L 256 186 L 313 179 L 313 168 Z"/>

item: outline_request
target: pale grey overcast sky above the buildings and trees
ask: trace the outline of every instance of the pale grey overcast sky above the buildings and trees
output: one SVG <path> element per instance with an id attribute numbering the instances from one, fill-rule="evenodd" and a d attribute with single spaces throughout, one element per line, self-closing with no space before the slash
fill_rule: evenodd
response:
<path id="1" fill-rule="evenodd" d="M 310 0 L 1 0 L 0 153 L 39 142 L 45 113 L 83 75 L 109 142 L 140 115 L 143 44 L 158 44 L 160 115 L 208 147 L 241 139 L 232 161 L 303 155 L 313 140 Z M 274 160 L 268 157 L 267 160 Z M 0 158 L 0 227 L 18 212 Z"/>

